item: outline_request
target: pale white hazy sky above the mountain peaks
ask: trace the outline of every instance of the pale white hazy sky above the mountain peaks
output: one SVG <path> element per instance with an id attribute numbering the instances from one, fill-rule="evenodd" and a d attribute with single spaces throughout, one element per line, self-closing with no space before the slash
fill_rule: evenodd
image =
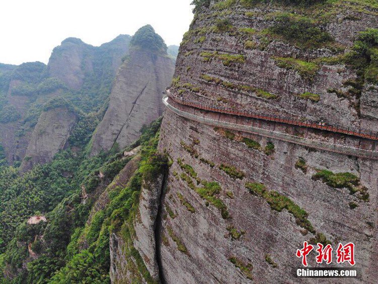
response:
<path id="1" fill-rule="evenodd" d="M 193 0 L 2 0 L 0 63 L 47 63 L 67 37 L 92 45 L 151 24 L 167 45 L 181 42 Z"/>

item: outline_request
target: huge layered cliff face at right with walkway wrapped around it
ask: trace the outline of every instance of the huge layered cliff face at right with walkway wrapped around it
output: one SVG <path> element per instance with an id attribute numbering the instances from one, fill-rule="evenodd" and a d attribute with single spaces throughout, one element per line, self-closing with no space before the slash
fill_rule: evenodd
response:
<path id="1" fill-rule="evenodd" d="M 171 95 L 376 132 L 378 78 L 350 59 L 359 58 L 358 32 L 378 27 L 377 7 L 343 5 L 212 1 L 198 8 L 180 46 Z M 322 18 L 322 11 L 329 15 Z M 308 42 L 316 37 L 306 39 L 310 30 L 322 40 Z M 247 118 L 235 122 L 375 149 L 374 141 L 327 131 Z M 294 277 L 292 269 L 301 266 L 295 251 L 303 241 L 326 239 L 334 247 L 354 242 L 362 278 L 352 282 L 374 282 L 376 160 L 206 125 L 171 110 L 165 111 L 159 145 L 173 160 L 159 243 L 166 282 L 318 282 Z M 317 266 L 314 255 L 309 266 Z"/>

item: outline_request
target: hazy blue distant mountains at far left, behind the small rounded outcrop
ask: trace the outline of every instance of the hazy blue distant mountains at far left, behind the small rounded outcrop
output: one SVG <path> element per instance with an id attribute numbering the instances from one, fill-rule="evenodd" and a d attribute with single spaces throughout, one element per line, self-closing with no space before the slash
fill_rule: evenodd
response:
<path id="1" fill-rule="evenodd" d="M 85 112 L 101 108 L 110 93 L 121 59 L 129 50 L 130 40 L 129 35 L 119 35 L 95 47 L 80 39 L 68 38 L 54 48 L 47 66 L 38 62 L 20 66 L 0 65 L 0 144 L 9 164 L 21 162 L 29 146 L 27 163 L 31 165 L 34 159 L 30 157 L 40 154 L 34 151 L 35 147 L 54 148 L 49 141 L 60 140 L 51 136 L 52 140 L 45 140 L 46 144 L 42 145 L 42 140 L 37 139 L 40 134 L 33 133 L 37 122 L 39 125 L 48 123 L 42 122 L 48 119 L 46 113 L 41 118 L 39 115 L 49 99 L 64 96 Z M 54 116 L 53 112 L 50 110 L 50 117 Z M 59 113 L 55 115 L 59 117 Z M 70 120 L 76 121 L 76 118 Z M 65 137 L 70 135 L 69 132 L 61 134 Z M 47 152 L 52 154 L 55 150 Z"/>

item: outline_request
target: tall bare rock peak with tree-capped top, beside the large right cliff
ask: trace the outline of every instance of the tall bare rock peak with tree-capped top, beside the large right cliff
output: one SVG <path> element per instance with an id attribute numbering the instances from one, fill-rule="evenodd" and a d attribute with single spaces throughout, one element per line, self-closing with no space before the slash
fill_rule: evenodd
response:
<path id="1" fill-rule="evenodd" d="M 93 155 L 115 145 L 129 145 L 138 139 L 144 125 L 162 115 L 161 98 L 174 69 L 174 60 L 166 50 L 151 26 L 136 32 L 130 53 L 118 70 L 109 107 L 93 137 Z"/>

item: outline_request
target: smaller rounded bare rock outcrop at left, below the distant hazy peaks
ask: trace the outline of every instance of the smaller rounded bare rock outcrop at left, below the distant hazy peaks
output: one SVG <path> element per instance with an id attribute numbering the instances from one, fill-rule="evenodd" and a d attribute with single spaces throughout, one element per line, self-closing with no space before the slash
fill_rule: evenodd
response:
<path id="1" fill-rule="evenodd" d="M 42 112 L 30 138 L 22 169 L 28 170 L 34 164 L 43 164 L 63 149 L 70 137 L 78 116 L 69 107 L 51 108 Z"/>

